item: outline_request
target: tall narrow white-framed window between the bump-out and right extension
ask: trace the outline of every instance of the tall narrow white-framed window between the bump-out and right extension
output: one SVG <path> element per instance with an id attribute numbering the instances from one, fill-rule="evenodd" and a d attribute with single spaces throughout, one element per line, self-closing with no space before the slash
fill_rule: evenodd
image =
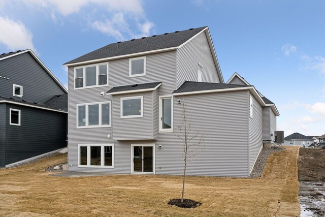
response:
<path id="1" fill-rule="evenodd" d="M 159 97 L 159 132 L 173 132 L 173 98 Z"/>

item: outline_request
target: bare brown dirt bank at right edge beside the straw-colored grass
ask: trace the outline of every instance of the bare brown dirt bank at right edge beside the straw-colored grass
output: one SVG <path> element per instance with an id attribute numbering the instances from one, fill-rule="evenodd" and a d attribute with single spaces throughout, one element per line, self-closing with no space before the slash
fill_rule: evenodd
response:
<path id="1" fill-rule="evenodd" d="M 300 181 L 325 181 L 325 150 L 300 148 L 298 158 Z"/>

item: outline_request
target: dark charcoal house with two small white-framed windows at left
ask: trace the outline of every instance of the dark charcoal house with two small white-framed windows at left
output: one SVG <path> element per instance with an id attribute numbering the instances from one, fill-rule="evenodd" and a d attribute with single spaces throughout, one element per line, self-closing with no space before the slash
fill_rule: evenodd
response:
<path id="1" fill-rule="evenodd" d="M 66 146 L 67 95 L 31 50 L 0 55 L 0 167 Z"/>

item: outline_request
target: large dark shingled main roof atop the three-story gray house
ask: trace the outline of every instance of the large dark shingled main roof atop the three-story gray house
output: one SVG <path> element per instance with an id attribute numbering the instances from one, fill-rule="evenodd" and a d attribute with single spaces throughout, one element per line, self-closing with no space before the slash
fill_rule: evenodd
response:
<path id="1" fill-rule="evenodd" d="M 190 28 L 188 30 L 176 31 L 174 33 L 165 33 L 163 35 L 154 35 L 151 37 L 143 37 L 141 39 L 132 39 L 130 41 L 112 43 L 75 58 L 65 64 L 74 64 L 94 59 L 177 47 L 200 33 L 206 27 L 207 26 Z"/>

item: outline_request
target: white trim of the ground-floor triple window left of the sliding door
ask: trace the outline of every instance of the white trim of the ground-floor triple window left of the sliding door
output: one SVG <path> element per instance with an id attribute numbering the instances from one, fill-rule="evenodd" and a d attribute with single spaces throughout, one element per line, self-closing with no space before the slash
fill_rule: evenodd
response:
<path id="1" fill-rule="evenodd" d="M 90 165 L 90 147 L 101 146 L 101 165 Z M 112 166 L 104 166 L 104 147 L 112 146 Z M 80 147 L 87 147 L 87 165 L 80 165 Z M 92 168 L 114 168 L 114 144 L 79 144 L 78 145 L 78 167 L 92 167 Z"/>

